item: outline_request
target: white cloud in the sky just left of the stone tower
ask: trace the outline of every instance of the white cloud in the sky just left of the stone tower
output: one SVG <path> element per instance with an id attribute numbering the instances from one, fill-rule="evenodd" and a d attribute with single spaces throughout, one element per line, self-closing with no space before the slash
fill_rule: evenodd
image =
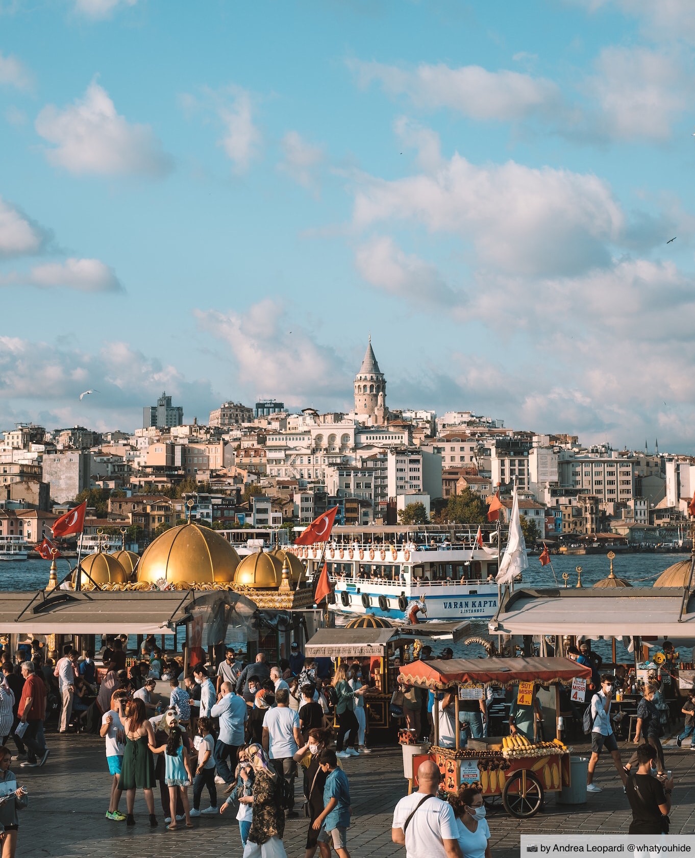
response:
<path id="1" fill-rule="evenodd" d="M 225 341 L 251 395 L 282 396 L 290 405 L 329 399 L 352 384 L 334 350 L 290 324 L 282 305 L 264 299 L 245 313 L 196 311 L 202 327 Z"/>

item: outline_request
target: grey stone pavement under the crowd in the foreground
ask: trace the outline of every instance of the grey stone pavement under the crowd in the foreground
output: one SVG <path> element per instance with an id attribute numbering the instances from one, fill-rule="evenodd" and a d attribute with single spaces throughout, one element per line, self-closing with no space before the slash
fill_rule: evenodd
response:
<path id="1" fill-rule="evenodd" d="M 239 827 L 232 808 L 223 817 L 202 816 L 194 830 L 166 831 L 155 792 L 158 828 L 151 830 L 142 793 L 136 798 L 137 825 L 105 819 L 110 777 L 104 743 L 98 736 L 50 734 L 51 756 L 42 769 L 21 769 L 17 779 L 29 790 L 29 807 L 21 813 L 18 858 L 178 858 L 183 856 L 240 856 Z M 628 747 L 621 746 L 626 761 Z M 672 833 L 695 831 L 695 751 L 667 746 L 667 767 L 674 771 Z M 629 748 L 632 752 L 632 746 Z M 391 843 L 390 825 L 396 801 L 405 795 L 400 747 L 375 749 L 369 756 L 345 761 L 353 796 L 353 826 L 348 849 L 353 858 L 405 858 L 405 850 Z M 559 831 L 566 833 L 626 832 L 629 808 L 612 763 L 601 759 L 595 782 L 603 792 L 589 795 L 584 805 L 556 804 L 547 794 L 545 807 L 533 819 L 518 820 L 504 809 L 488 812 L 494 858 L 518 855 L 519 836 Z M 299 796 L 299 783 L 297 786 Z M 202 807 L 207 806 L 207 793 Z M 122 809 L 125 803 L 122 802 Z M 300 808 L 299 808 L 300 809 Z M 304 855 L 308 820 L 289 819 L 285 845 L 290 858 Z"/>

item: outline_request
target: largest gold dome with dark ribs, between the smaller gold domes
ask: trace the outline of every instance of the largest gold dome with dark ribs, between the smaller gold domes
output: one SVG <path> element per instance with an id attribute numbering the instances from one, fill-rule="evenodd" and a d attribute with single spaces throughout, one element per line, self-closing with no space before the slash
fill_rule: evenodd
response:
<path id="1" fill-rule="evenodd" d="M 239 554 L 224 536 L 196 523 L 179 524 L 150 542 L 140 558 L 137 580 L 157 583 L 230 583 Z"/>

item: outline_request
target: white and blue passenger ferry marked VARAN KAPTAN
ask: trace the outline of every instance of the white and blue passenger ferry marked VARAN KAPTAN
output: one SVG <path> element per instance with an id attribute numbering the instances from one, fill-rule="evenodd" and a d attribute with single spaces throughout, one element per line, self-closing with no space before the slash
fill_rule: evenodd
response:
<path id="1" fill-rule="evenodd" d="M 299 529 L 301 530 L 301 528 Z M 387 619 L 490 619 L 498 607 L 497 531 L 477 524 L 335 526 L 325 562 L 335 584 L 330 610 Z M 292 546 L 311 578 L 323 546 Z M 415 612 L 416 605 L 419 607 Z"/>

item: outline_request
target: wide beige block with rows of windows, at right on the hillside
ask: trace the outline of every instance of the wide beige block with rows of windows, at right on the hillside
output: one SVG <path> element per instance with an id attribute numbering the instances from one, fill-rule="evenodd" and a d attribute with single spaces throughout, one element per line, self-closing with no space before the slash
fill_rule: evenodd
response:
<path id="1" fill-rule="evenodd" d="M 635 461 L 632 457 L 607 454 L 559 454 L 559 480 L 563 486 L 583 488 L 599 503 L 627 503 L 634 497 Z"/>

